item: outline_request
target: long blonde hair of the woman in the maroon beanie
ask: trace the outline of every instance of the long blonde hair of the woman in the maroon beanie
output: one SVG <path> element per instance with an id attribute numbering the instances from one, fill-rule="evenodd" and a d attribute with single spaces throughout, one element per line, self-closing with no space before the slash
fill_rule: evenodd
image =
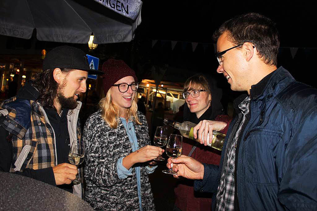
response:
<path id="1" fill-rule="evenodd" d="M 142 125 L 139 121 L 139 117 L 137 115 L 138 106 L 137 106 L 137 95 L 135 94 L 133 97 L 132 105 L 130 108 L 125 109 L 125 117 L 134 117 L 133 121 L 135 121 L 138 125 Z M 111 100 L 111 88 L 108 90 L 106 96 L 102 98 L 99 102 L 99 107 L 101 109 L 101 117 L 107 122 L 110 128 L 115 129 L 118 127 L 119 117 L 120 117 L 120 109 L 112 103 Z"/>

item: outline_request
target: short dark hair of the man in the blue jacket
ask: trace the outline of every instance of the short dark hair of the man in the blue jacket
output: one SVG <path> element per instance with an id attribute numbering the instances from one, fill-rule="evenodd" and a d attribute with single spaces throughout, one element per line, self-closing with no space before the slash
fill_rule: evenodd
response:
<path id="1" fill-rule="evenodd" d="M 218 38 L 227 32 L 229 41 L 235 45 L 251 42 L 265 64 L 277 65 L 280 40 L 275 25 L 268 17 L 247 13 L 224 22 L 214 33 L 213 39 L 217 42 Z"/>

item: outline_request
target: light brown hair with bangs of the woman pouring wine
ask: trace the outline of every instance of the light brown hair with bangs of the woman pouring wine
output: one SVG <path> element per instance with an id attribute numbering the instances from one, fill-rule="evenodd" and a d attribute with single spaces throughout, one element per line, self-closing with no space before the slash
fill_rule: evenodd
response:
<path id="1" fill-rule="evenodd" d="M 206 94 L 207 94 L 206 102 L 208 102 L 208 98 L 209 98 L 208 96 L 209 95 L 212 96 L 212 94 L 211 94 L 210 86 L 208 84 L 208 80 L 203 75 L 196 75 L 196 76 L 192 76 L 191 78 L 188 78 L 184 83 L 183 92 L 197 90 L 199 87 L 201 87 L 203 90 L 206 90 Z"/>

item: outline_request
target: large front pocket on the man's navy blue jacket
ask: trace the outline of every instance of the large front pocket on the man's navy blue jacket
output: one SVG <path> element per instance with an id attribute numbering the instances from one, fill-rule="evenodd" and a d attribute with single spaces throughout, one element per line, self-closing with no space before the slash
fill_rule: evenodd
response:
<path id="1" fill-rule="evenodd" d="M 252 130 L 244 139 L 246 142 L 245 173 L 251 183 L 276 184 L 278 183 L 278 168 L 276 159 L 281 155 L 281 131 L 266 129 Z"/>

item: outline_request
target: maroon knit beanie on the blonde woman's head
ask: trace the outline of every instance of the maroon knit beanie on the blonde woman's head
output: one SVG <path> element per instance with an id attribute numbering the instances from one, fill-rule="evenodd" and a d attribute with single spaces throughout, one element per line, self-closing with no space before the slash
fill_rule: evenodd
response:
<path id="1" fill-rule="evenodd" d="M 111 85 L 119 81 L 126 76 L 132 76 L 135 82 L 138 82 L 138 78 L 135 72 L 122 60 L 108 59 L 102 65 L 103 75 L 103 91 L 107 95 Z"/>

